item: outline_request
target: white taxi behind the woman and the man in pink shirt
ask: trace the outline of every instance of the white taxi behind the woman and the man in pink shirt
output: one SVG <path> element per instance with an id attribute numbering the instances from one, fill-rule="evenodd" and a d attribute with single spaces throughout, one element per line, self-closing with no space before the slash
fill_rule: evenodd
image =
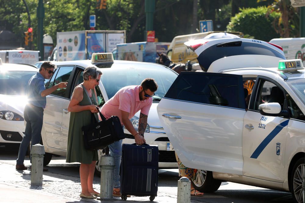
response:
<path id="1" fill-rule="evenodd" d="M 154 78 L 158 83 L 158 90 L 153 97 L 152 107 L 149 111 L 148 125 L 145 130 L 146 142 L 159 147 L 159 167 L 176 168 L 175 153 L 166 146 L 170 142 L 160 125 L 156 112 L 156 106 L 163 98 L 177 74 L 171 69 L 155 63 L 135 61 L 113 61 L 112 53 L 100 54 L 102 58 L 111 60 L 80 60 L 56 62 L 57 69 L 49 81 L 45 82 L 47 88 L 59 82 L 68 82 L 67 88 L 58 89 L 47 96 L 47 107 L 44 110 L 43 127 L 41 131 L 42 142 L 45 146 L 44 164 L 47 165 L 52 154 L 66 156 L 67 138 L 69 130 L 70 113 L 67 107 L 75 86 L 83 82 L 83 71 L 88 66 L 96 66 L 101 69 L 103 75 L 99 86 L 96 86 L 99 107 L 108 101 L 122 87 L 139 85 L 148 77 Z M 139 113 L 131 119 L 135 129 L 138 128 Z M 125 129 L 124 143 L 134 143 L 134 137 Z"/>

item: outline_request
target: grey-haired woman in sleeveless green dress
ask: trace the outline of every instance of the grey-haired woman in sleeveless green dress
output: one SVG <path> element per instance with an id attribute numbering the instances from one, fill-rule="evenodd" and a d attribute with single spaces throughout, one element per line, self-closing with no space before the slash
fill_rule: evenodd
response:
<path id="1" fill-rule="evenodd" d="M 100 195 L 93 189 L 95 163 L 99 160 L 98 152 L 84 148 L 81 127 L 91 123 L 91 113 L 98 113 L 95 86 L 99 85 L 101 75 L 102 72 L 98 68 L 87 67 L 83 73 L 84 82 L 75 87 L 68 106 L 68 111 L 71 113 L 66 162 L 81 163 L 79 169 L 81 198 L 94 199 Z M 98 115 L 94 115 L 95 119 L 98 120 Z"/>

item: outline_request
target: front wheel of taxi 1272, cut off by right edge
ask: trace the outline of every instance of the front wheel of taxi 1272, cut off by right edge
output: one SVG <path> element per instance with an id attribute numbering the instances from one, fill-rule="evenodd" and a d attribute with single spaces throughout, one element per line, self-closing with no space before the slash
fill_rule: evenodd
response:
<path id="1" fill-rule="evenodd" d="M 305 164 L 304 158 L 300 158 L 294 164 L 291 177 L 290 177 L 290 191 L 292 193 L 292 198 L 294 202 L 303 203 L 303 188 L 305 181 Z"/>

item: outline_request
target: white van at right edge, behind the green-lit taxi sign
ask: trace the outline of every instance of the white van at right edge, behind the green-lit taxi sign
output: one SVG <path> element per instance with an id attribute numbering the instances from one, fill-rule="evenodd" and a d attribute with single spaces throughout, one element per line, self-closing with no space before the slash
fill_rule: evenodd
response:
<path id="1" fill-rule="evenodd" d="M 301 59 L 305 66 L 305 37 L 300 38 L 277 38 L 270 43 L 283 48 L 286 59 Z"/>

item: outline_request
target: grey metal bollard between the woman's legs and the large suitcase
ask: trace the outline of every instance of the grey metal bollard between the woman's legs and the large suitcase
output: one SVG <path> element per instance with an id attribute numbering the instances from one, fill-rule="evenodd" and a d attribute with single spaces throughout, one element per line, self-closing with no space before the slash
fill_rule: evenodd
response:
<path id="1" fill-rule="evenodd" d="M 101 156 L 101 196 L 100 199 L 113 199 L 114 157 Z"/>

